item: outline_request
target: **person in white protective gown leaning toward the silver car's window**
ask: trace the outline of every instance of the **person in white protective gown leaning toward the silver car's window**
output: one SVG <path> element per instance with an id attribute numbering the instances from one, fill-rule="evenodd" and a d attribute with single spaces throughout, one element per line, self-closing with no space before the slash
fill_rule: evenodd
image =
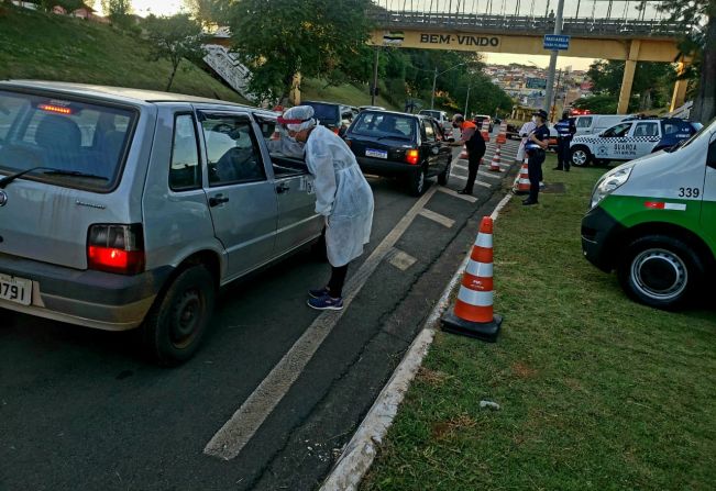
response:
<path id="1" fill-rule="evenodd" d="M 373 225 L 373 191 L 345 142 L 318 125 L 313 108 L 297 105 L 278 118 L 288 137 L 304 144 L 306 165 L 313 176 L 316 213 L 326 223 L 326 252 L 331 278 L 309 290 L 308 305 L 317 310 L 343 309 L 343 283 L 351 260 L 363 254 Z"/>

